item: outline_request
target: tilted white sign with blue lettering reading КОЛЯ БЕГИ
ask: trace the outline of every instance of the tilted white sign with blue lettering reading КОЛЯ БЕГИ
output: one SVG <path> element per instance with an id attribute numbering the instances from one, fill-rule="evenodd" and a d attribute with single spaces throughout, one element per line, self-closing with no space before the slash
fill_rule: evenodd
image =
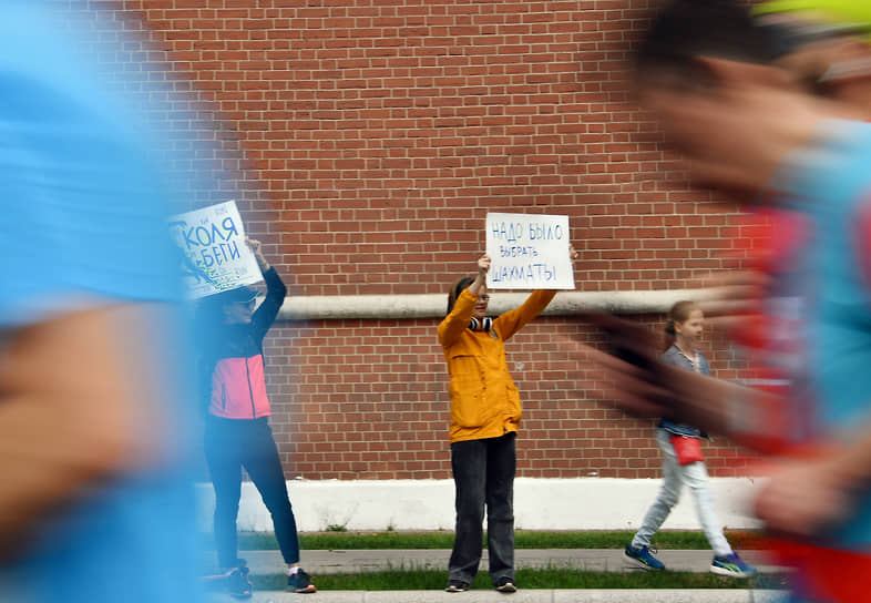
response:
<path id="1" fill-rule="evenodd" d="M 172 216 L 170 235 L 181 251 L 185 292 L 191 298 L 263 280 L 257 259 L 245 244 L 235 201 Z"/>

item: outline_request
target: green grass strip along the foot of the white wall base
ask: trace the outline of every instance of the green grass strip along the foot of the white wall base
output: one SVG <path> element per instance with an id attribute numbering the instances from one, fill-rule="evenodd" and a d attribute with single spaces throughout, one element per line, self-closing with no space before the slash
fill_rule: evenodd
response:
<path id="1" fill-rule="evenodd" d="M 631 531 L 540 532 L 516 530 L 515 549 L 623 549 L 632 540 Z M 738 549 L 756 548 L 758 534 L 727 531 L 729 542 Z M 205 535 L 211 543 L 211 536 Z M 451 549 L 453 532 L 317 532 L 299 535 L 303 550 L 360 550 L 360 549 Z M 484 539 L 486 546 L 486 539 Z M 663 531 L 653 542 L 659 549 L 706 550 L 710 544 L 698 531 Z M 275 535 L 268 532 L 239 533 L 239 550 L 259 551 L 278 549 Z"/>

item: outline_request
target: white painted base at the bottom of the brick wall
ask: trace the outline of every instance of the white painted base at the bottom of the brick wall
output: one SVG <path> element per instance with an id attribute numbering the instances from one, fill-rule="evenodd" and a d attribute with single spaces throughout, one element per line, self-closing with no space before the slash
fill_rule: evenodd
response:
<path id="1" fill-rule="evenodd" d="M 749 513 L 751 492 L 760 478 L 713 478 L 711 494 L 724 527 L 758 528 Z M 656 498 L 660 480 L 606 478 L 533 479 L 514 481 L 514 525 L 522 530 L 635 530 Z M 305 481 L 287 482 L 297 527 L 301 532 L 342 525 L 348 530 L 453 530 L 452 480 Z M 214 492 L 198 486 L 199 521 L 212 529 Z M 684 494 L 663 527 L 698 530 L 693 497 Z M 238 529 L 273 531 L 269 513 L 254 488 L 242 488 Z"/>

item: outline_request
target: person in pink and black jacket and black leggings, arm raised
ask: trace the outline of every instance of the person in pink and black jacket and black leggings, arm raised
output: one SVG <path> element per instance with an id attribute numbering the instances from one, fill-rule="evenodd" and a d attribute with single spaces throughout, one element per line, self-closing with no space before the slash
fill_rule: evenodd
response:
<path id="1" fill-rule="evenodd" d="M 281 460 L 269 428 L 263 340 L 281 308 L 287 287 L 269 265 L 260 243 L 247 239 L 266 282 L 266 298 L 256 306 L 257 292 L 239 287 L 207 298 L 203 318 L 217 323 L 217 335 L 204 349 L 201 378 L 208 411 L 205 456 L 215 487 L 214 530 L 218 563 L 230 594 L 250 596 L 248 569 L 237 559 L 236 518 L 244 467 L 273 517 L 275 535 L 287 563 L 287 590 L 315 592 L 299 565 L 296 520 L 287 494 Z M 256 309 L 255 309 L 256 307 Z"/>

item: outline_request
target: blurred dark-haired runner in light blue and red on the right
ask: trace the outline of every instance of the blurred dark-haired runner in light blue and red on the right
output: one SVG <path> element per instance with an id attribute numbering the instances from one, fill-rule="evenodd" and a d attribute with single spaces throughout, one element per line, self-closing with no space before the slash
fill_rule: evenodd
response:
<path id="1" fill-rule="evenodd" d="M 778 389 L 665 365 L 648 329 L 609 315 L 591 318 L 611 352 L 578 351 L 624 409 L 769 456 L 756 511 L 798 570 L 790 601 L 858 603 L 871 592 L 871 125 L 796 85 L 779 41 L 737 0 L 674 0 L 635 64 L 639 104 L 696 183 L 790 213 L 761 300 L 780 321 L 752 334 L 769 339 Z"/>

